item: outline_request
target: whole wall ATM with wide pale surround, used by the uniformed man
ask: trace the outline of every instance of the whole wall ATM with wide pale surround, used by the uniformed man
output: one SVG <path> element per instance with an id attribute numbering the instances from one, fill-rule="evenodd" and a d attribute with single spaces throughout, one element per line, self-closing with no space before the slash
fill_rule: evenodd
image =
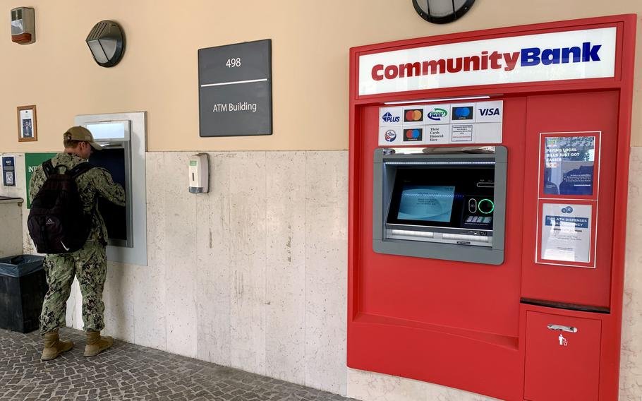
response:
<path id="1" fill-rule="evenodd" d="M 107 226 L 107 260 L 147 265 L 145 112 L 85 114 L 75 124 L 89 129 L 103 147 L 89 162 L 107 169 L 125 189 L 125 207 L 102 198 L 96 205 Z"/>

